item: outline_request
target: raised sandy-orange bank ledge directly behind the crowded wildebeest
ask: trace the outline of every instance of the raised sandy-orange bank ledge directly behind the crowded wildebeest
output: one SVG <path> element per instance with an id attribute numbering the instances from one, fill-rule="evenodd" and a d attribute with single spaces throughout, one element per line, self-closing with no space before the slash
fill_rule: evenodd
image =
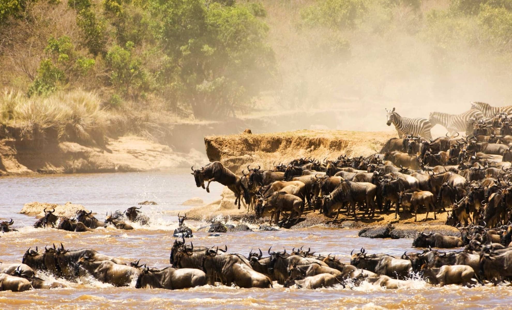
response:
<path id="1" fill-rule="evenodd" d="M 296 130 L 269 134 L 239 134 L 204 138 L 209 161 L 220 161 L 232 171 L 241 172 L 248 164 L 272 168 L 273 162 L 295 158 L 326 156 L 337 158 L 368 156 L 379 151 L 394 131 Z"/>

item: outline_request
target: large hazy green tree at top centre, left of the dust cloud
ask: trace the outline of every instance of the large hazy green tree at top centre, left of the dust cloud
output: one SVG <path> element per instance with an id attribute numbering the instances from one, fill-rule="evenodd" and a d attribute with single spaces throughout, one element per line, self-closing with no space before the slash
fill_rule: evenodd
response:
<path id="1" fill-rule="evenodd" d="M 271 78 L 268 27 L 246 6 L 201 0 L 156 4 L 164 52 L 179 64 L 171 85 L 177 99 L 201 117 L 233 114 L 257 96 Z"/>

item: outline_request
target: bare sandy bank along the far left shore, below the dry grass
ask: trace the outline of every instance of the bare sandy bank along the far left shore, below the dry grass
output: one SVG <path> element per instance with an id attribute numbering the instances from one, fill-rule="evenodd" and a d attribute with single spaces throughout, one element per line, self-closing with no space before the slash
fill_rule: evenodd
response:
<path id="1" fill-rule="evenodd" d="M 74 142 L 19 144 L 0 140 L 0 175 L 165 170 L 205 161 L 197 150 L 179 153 L 136 136 L 108 139 L 104 148 Z"/>

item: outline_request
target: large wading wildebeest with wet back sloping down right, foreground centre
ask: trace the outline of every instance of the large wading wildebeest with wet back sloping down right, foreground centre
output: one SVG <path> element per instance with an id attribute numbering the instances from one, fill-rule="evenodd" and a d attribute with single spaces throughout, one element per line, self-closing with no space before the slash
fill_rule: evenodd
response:
<path id="1" fill-rule="evenodd" d="M 204 269 L 209 284 L 220 278 L 222 284 L 230 286 L 234 283 L 243 288 L 272 286 L 269 277 L 254 271 L 245 256 L 241 254 L 221 255 L 217 249 L 209 248 L 204 257 Z"/>

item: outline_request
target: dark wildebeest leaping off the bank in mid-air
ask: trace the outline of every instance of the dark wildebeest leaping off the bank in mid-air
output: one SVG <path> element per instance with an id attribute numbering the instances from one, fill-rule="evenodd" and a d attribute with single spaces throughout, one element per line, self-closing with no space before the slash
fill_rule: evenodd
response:
<path id="1" fill-rule="evenodd" d="M 204 167 L 201 167 L 201 169 L 196 170 L 194 170 L 194 166 L 192 166 L 191 169 L 194 171 L 191 174 L 194 175 L 197 187 L 205 188 L 204 181 L 208 181 L 205 189 L 209 193 L 210 183 L 216 181 L 224 186 L 227 186 L 234 193 L 234 196 L 236 197 L 234 204 L 236 205 L 238 202 L 239 209 L 242 195 L 244 196 L 245 203 L 247 205 L 250 203 L 249 190 L 242 184 L 242 179 L 240 176 L 229 171 L 221 162 L 212 162 Z"/>

